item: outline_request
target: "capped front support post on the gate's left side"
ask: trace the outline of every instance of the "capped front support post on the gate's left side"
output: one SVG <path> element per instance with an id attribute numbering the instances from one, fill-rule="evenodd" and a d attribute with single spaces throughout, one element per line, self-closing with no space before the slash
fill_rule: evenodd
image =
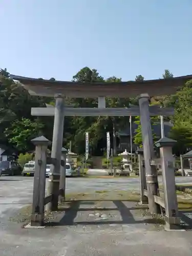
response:
<path id="1" fill-rule="evenodd" d="M 51 142 L 44 136 L 32 139 L 31 142 L 36 146 L 31 226 L 42 226 L 44 225 L 45 215 L 47 147 Z"/>

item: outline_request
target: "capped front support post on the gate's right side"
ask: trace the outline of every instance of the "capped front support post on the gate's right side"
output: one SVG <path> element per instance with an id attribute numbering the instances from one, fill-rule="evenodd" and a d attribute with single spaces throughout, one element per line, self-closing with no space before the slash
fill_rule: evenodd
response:
<path id="1" fill-rule="evenodd" d="M 176 229 L 180 224 L 173 164 L 174 157 L 172 154 L 172 147 L 176 142 L 176 140 L 163 137 L 155 143 L 157 147 L 160 147 L 166 229 Z"/>

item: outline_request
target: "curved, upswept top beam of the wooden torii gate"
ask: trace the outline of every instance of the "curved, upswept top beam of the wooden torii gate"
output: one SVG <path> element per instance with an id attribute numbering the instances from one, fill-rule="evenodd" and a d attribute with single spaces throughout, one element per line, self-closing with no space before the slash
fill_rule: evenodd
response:
<path id="1" fill-rule="evenodd" d="M 170 95 L 176 93 L 187 80 L 192 79 L 192 75 L 187 75 L 128 82 L 68 82 L 16 75 L 10 75 L 10 77 L 22 83 L 31 95 L 53 97 L 61 94 L 71 98 L 127 98 L 136 97 L 142 93 L 148 93 L 150 96 Z"/>

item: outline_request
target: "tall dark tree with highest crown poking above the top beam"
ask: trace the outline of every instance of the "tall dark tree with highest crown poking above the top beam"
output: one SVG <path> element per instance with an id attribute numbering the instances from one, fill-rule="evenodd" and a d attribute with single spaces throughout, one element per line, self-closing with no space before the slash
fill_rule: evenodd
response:
<path id="1" fill-rule="evenodd" d="M 97 70 L 91 70 L 88 67 L 81 69 L 75 76 L 75 82 L 92 82 L 104 81 L 102 76 L 99 76 Z M 71 99 L 70 103 L 75 107 L 95 108 L 98 105 L 97 98 L 75 98 Z M 65 118 L 65 123 L 69 125 L 65 127 L 65 142 L 72 141 L 72 147 L 79 154 L 84 154 L 85 147 L 85 132 L 90 133 L 90 145 L 93 151 L 98 154 L 98 142 L 102 138 L 101 118 L 100 117 L 69 117 Z M 100 149 L 99 149 L 100 151 Z"/>

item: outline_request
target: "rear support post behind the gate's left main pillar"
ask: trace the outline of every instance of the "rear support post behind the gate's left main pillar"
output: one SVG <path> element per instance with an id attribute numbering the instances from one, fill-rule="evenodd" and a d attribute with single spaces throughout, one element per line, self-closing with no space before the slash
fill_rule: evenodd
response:
<path id="1" fill-rule="evenodd" d="M 66 199 L 66 154 L 68 153 L 68 150 L 66 150 L 65 147 L 62 147 L 61 153 L 59 202 L 64 202 Z"/>

